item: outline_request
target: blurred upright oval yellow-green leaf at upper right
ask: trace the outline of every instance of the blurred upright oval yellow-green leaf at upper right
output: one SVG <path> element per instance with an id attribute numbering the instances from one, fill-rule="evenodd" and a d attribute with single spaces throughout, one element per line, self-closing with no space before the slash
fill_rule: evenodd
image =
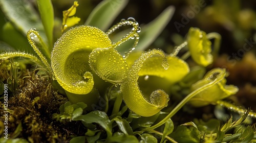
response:
<path id="1" fill-rule="evenodd" d="M 212 63 L 211 42 L 206 33 L 198 28 L 190 28 L 187 35 L 187 46 L 193 60 L 202 66 Z"/>

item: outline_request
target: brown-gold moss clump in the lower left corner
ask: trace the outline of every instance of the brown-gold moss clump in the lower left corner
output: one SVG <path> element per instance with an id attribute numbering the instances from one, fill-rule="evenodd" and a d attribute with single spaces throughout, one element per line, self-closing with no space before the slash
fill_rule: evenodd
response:
<path id="1" fill-rule="evenodd" d="M 53 118 L 54 113 L 59 113 L 59 106 L 67 101 L 57 92 L 52 90 L 51 83 L 43 78 L 27 80 L 19 93 L 9 98 L 9 137 L 26 138 L 30 142 L 47 140 L 62 142 L 69 140 L 71 134 L 79 135 L 84 127 L 80 122 L 60 123 Z M 0 106 L 4 104 L 0 102 Z M 4 108 L 0 108 L 3 112 Z M 4 121 L 4 116 L 0 117 Z M 19 132 L 14 132 L 18 125 L 22 125 Z M 20 128 L 20 127 L 19 127 Z M 2 130 L 2 129 L 1 129 Z M 17 130 L 16 130 L 17 131 Z"/>

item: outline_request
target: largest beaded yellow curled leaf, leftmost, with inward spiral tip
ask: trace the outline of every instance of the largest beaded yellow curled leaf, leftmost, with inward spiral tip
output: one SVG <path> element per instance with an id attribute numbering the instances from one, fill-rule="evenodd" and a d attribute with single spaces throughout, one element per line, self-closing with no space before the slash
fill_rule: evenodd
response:
<path id="1" fill-rule="evenodd" d="M 51 66 L 58 83 L 68 92 L 87 94 L 94 85 L 89 66 L 93 49 L 111 47 L 108 35 L 91 26 L 74 27 L 54 44 Z"/>

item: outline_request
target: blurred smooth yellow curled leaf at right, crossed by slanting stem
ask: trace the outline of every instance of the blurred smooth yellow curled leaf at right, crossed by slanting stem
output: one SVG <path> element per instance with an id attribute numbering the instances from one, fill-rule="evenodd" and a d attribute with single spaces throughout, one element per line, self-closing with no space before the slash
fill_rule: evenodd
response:
<path id="1" fill-rule="evenodd" d="M 211 103 L 216 103 L 219 100 L 227 98 L 232 94 L 238 92 L 238 87 L 234 85 L 226 85 L 226 70 L 225 68 L 214 68 L 210 70 L 205 77 L 196 82 L 191 86 L 191 91 L 194 91 L 214 80 L 218 77 L 223 77 L 220 82 L 215 84 L 212 87 L 209 87 L 207 90 L 203 90 L 198 93 L 195 97 L 190 100 L 190 104 L 195 107 L 202 107 L 209 105 Z"/>

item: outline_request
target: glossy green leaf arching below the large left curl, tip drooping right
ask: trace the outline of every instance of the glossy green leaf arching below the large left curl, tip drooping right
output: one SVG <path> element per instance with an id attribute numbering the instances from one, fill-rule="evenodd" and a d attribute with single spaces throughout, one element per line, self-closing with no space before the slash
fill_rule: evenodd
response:
<path id="1" fill-rule="evenodd" d="M 86 115 L 80 115 L 77 118 L 74 118 L 74 120 L 83 121 L 88 124 L 97 123 L 105 129 L 108 137 L 112 136 L 112 122 L 109 120 L 109 117 L 105 112 L 99 110 L 92 111 Z"/>

